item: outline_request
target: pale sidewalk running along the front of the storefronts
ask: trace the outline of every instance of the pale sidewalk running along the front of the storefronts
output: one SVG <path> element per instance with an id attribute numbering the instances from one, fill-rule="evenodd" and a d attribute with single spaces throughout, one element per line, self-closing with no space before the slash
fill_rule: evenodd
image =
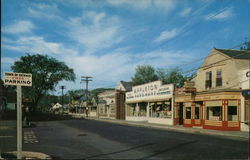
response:
<path id="1" fill-rule="evenodd" d="M 126 120 L 117 120 L 117 119 L 108 119 L 108 118 L 96 118 L 96 117 L 85 117 L 86 119 L 96 120 L 96 121 L 104 121 L 109 123 L 117 123 L 122 125 L 129 126 L 140 126 L 140 127 L 149 127 L 149 128 L 158 128 L 158 129 L 166 129 L 173 130 L 184 133 L 193 133 L 193 134 L 207 134 L 214 136 L 226 136 L 226 137 L 234 137 L 234 138 L 243 138 L 245 140 L 249 140 L 249 132 L 241 132 L 241 131 L 217 131 L 217 130 L 208 130 L 202 128 L 189 128 L 183 127 L 180 125 L 170 126 L 163 124 L 154 124 L 148 122 L 134 122 L 134 121 L 126 121 Z"/>

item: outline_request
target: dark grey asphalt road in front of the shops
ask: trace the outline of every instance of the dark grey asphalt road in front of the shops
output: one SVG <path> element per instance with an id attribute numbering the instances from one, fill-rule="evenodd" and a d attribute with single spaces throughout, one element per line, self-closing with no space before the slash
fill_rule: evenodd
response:
<path id="1" fill-rule="evenodd" d="M 248 159 L 242 139 L 94 120 L 40 122 L 26 128 L 24 150 L 61 159 Z"/>

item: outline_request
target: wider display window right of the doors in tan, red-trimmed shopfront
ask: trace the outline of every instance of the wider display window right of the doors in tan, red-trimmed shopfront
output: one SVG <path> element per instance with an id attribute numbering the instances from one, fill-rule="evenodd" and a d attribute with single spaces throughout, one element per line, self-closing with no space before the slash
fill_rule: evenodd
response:
<path id="1" fill-rule="evenodd" d="M 207 107 L 207 120 L 221 121 L 222 107 L 221 106 Z"/>

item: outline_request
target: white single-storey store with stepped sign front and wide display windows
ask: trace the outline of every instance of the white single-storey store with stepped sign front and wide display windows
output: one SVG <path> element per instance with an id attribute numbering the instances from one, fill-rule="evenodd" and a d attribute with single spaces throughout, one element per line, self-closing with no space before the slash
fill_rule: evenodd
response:
<path id="1" fill-rule="evenodd" d="M 173 125 L 174 85 L 154 81 L 126 93 L 126 120 Z"/>

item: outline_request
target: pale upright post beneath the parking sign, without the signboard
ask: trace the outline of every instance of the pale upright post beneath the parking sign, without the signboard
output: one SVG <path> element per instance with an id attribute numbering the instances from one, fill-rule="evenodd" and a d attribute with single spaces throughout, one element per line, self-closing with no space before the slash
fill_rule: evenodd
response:
<path id="1" fill-rule="evenodd" d="M 17 159 L 22 159 L 22 87 L 17 86 Z"/>

